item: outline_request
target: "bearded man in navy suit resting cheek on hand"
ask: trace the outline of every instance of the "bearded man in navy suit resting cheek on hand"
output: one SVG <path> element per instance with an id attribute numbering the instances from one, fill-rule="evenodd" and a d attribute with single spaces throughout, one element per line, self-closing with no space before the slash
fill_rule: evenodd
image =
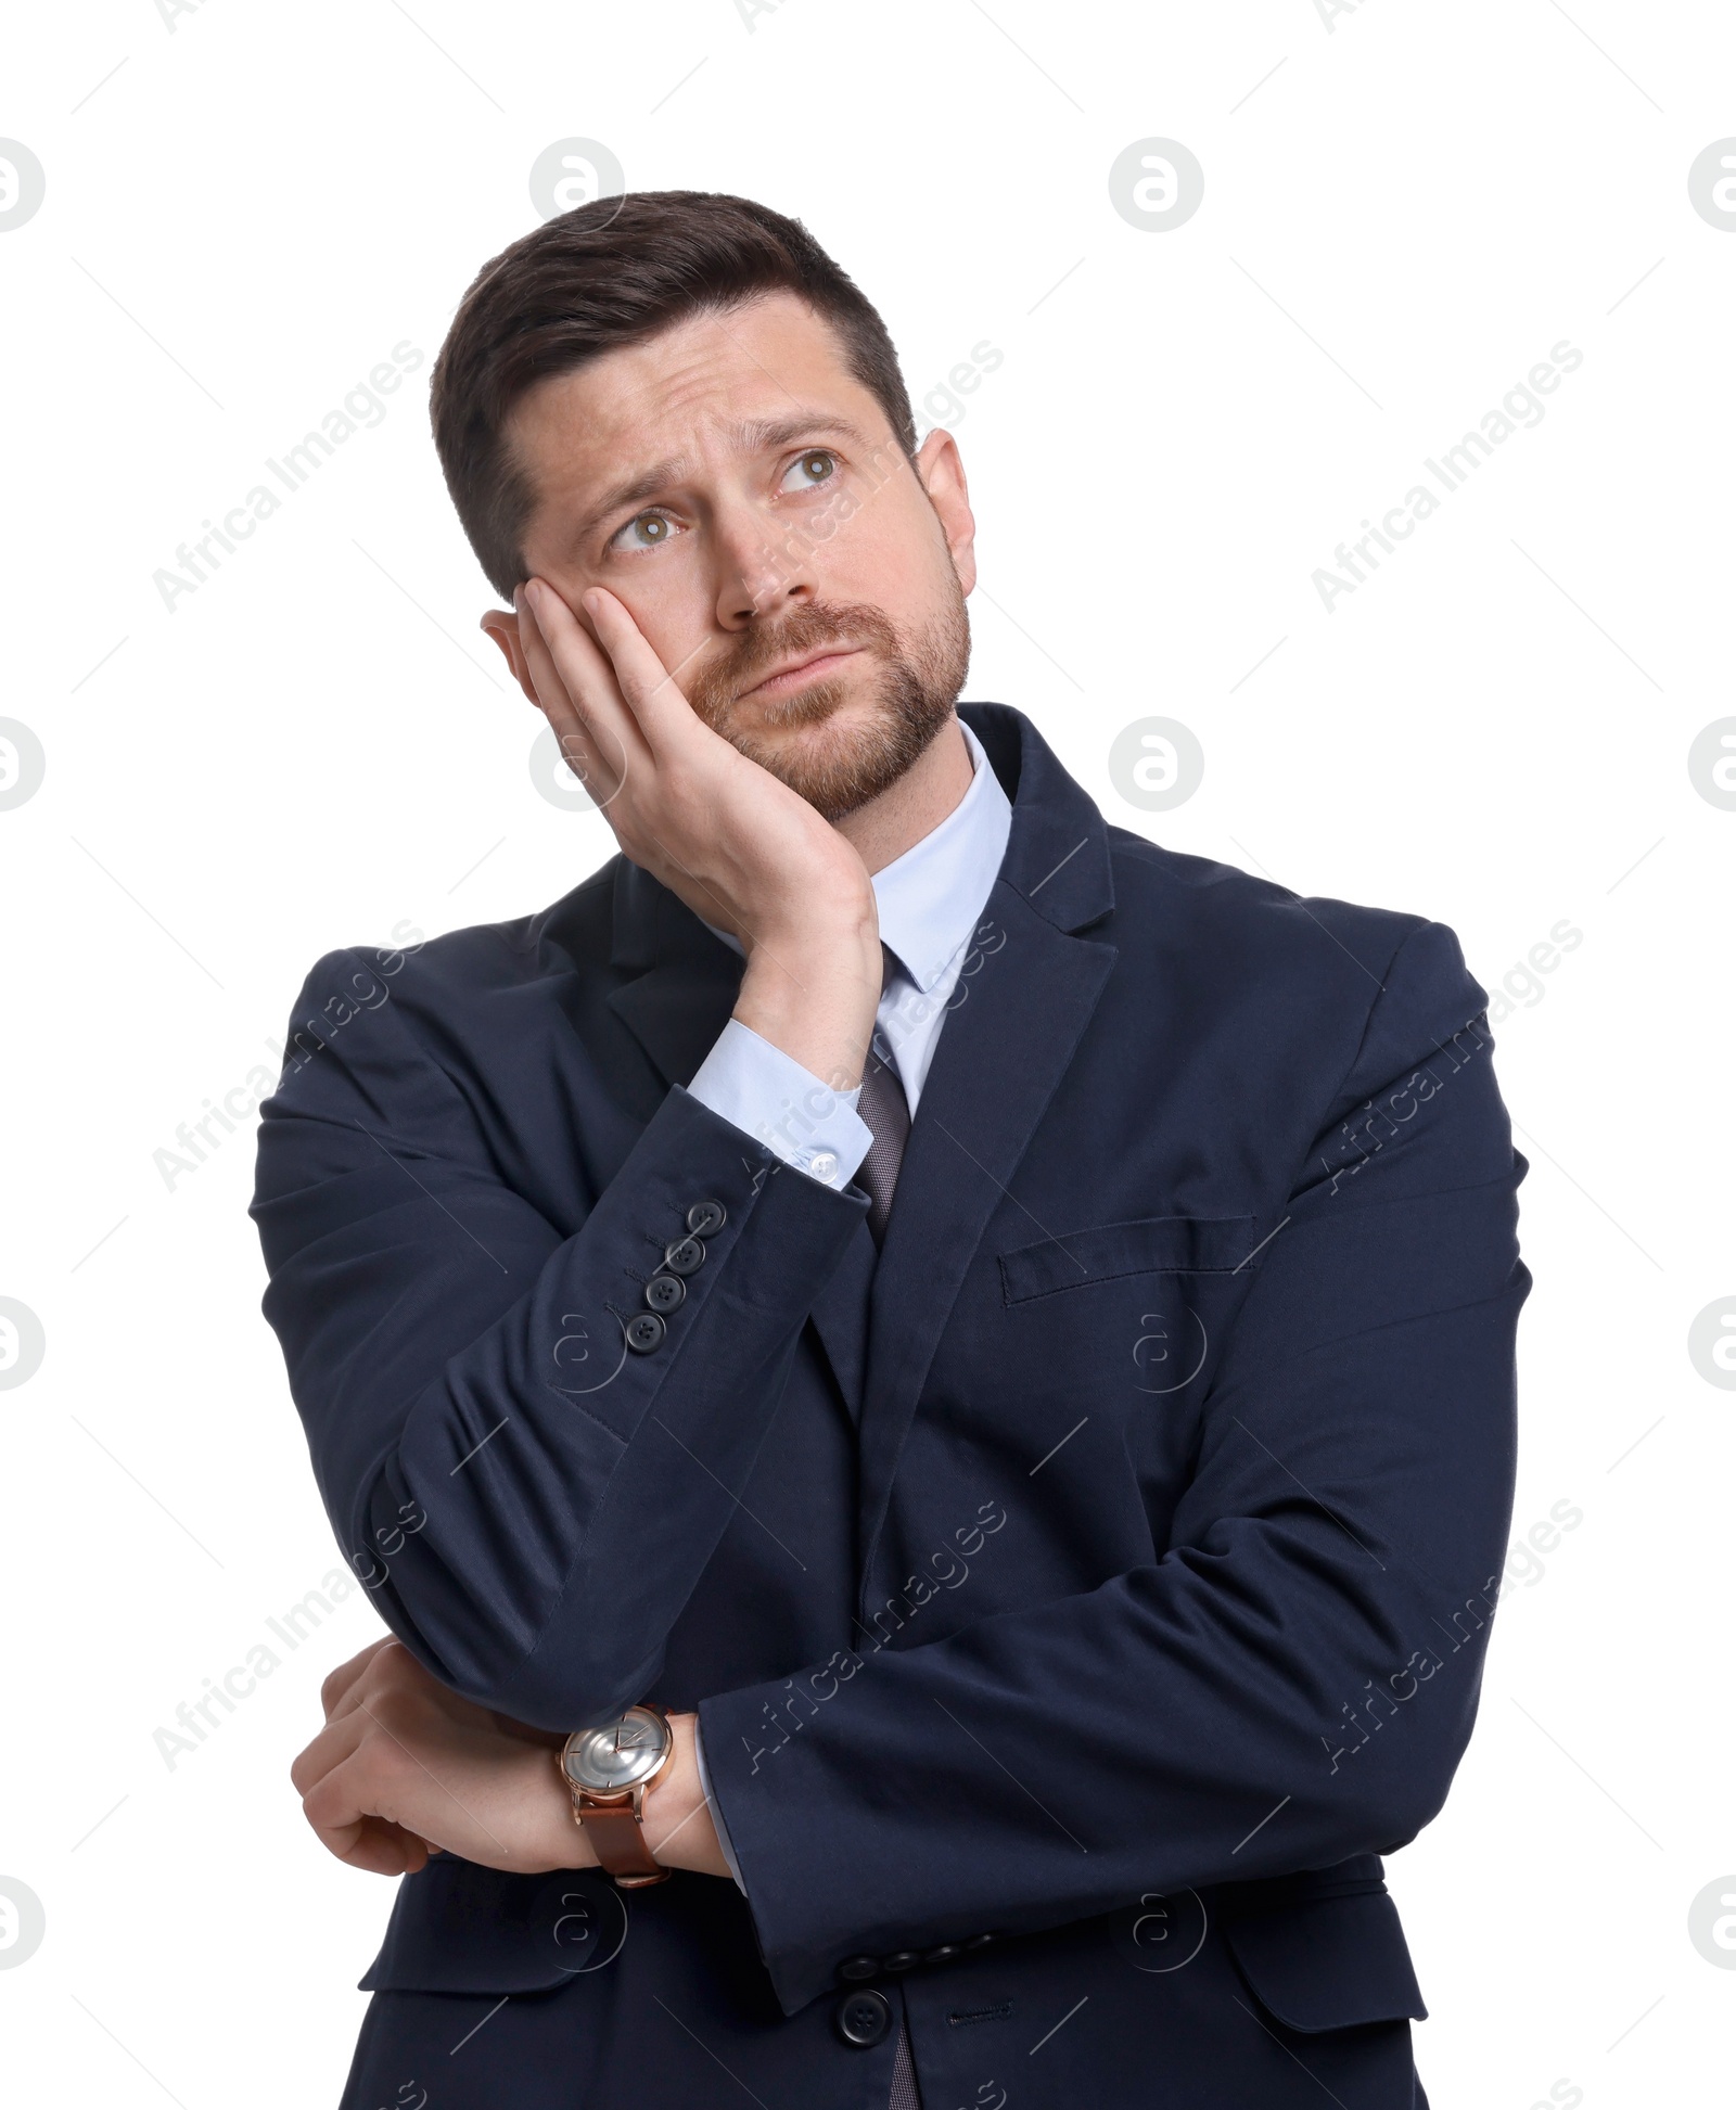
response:
<path id="1" fill-rule="evenodd" d="M 1470 1734 L 1529 1281 L 1451 933 L 953 709 L 958 447 L 799 224 L 538 228 L 432 416 L 622 855 L 329 954 L 264 1108 L 394 1635 L 295 1764 L 405 1878 L 346 2110 L 1422 2104 L 1377 1857 Z"/>

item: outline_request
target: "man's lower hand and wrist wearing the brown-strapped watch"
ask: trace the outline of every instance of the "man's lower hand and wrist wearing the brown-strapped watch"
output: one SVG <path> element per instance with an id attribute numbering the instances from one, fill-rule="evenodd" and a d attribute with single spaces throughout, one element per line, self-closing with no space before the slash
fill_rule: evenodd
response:
<path id="1" fill-rule="evenodd" d="M 521 1876 L 595 1867 L 555 1753 L 563 1739 L 449 1692 L 397 1639 L 321 1688 L 325 1728 L 289 1768 L 302 1810 L 350 1867 L 413 1876 L 454 1853 Z M 664 1867 L 728 1876 L 698 1785 L 694 1715 L 671 1715 L 675 1756 L 645 1796 L 645 1846 Z"/>

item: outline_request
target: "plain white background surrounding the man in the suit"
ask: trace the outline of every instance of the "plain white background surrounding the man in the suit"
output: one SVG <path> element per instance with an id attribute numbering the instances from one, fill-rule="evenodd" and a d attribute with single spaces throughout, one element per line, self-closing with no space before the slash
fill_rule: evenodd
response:
<path id="1" fill-rule="evenodd" d="M 918 403 L 1004 352 L 924 418 L 981 521 L 966 694 L 1112 821 L 1436 916 L 1491 992 L 1584 933 L 1498 1032 L 1538 1277 L 1515 1534 L 1584 1521 L 1504 1599 L 1390 1880 L 1436 2110 L 1730 2099 L 1736 1975 L 1687 1907 L 1736 1869 L 1736 1399 L 1687 1327 L 1736 1293 L 1736 814 L 1687 749 L 1736 711 L 1736 226 L 1687 171 L 1732 80 L 1711 0 L 13 13 L 0 133 L 46 200 L 0 234 L 0 713 L 46 781 L 0 812 L 0 1293 L 46 1357 L 0 1393 L 0 1876 L 46 1939 L 0 1971 L 8 2099 L 310 2110 L 346 2072 L 390 1886 L 319 1850 L 287 1766 L 363 1595 L 192 1756 L 154 1745 L 337 1566 L 257 1310 L 251 1123 L 173 1188 L 154 1152 L 274 1070 L 321 952 L 523 914 L 612 848 L 532 785 L 424 403 L 570 135 L 799 215 Z M 1107 190 L 1150 135 L 1204 167 L 1169 232 Z M 403 340 L 384 422 L 171 614 L 152 572 Z M 1314 568 L 1561 340 L 1544 422 L 1327 612 Z M 1145 715 L 1207 755 L 1164 814 L 1105 766 Z"/>

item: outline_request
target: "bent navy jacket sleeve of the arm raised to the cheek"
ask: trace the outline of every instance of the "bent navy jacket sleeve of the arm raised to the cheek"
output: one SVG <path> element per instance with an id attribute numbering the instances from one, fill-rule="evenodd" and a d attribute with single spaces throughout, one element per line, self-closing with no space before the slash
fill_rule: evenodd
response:
<path id="1" fill-rule="evenodd" d="M 304 985 L 321 1030 L 262 1108 L 264 1312 L 380 1616 L 451 1690 L 570 1730 L 656 1682 L 865 1198 L 677 1085 L 563 1236 L 405 1013 L 356 954 Z M 597 1104 L 584 1061 L 574 1038 L 559 1082 Z M 643 1285 L 707 1201 L 724 1224 L 635 1353 Z"/>

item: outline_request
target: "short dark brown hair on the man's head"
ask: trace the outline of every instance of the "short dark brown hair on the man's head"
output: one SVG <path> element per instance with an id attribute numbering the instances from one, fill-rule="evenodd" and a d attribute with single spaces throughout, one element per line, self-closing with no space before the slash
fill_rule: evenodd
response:
<path id="1" fill-rule="evenodd" d="M 506 441 L 519 397 L 690 314 L 776 291 L 833 325 L 846 367 L 913 460 L 915 420 L 877 310 L 799 219 L 766 205 L 711 190 L 595 198 L 477 272 L 435 361 L 430 416 L 451 502 L 496 593 L 510 601 L 525 578 L 519 538 L 536 504 Z"/>

